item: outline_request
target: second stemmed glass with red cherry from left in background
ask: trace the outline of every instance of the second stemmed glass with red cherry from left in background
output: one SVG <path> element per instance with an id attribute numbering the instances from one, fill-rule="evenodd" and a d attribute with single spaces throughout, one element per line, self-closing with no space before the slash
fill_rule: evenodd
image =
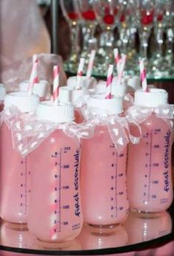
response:
<path id="1" fill-rule="evenodd" d="M 97 26 L 96 14 L 94 12 L 94 0 L 78 0 L 79 10 L 82 17 L 83 50 L 81 57 L 88 60 L 92 49 L 97 49 L 97 39 L 94 32 Z"/>

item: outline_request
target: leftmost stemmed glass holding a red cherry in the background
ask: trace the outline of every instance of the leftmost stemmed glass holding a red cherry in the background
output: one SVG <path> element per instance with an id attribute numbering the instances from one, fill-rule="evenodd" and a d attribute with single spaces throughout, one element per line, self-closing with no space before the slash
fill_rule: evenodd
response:
<path id="1" fill-rule="evenodd" d="M 66 61 L 69 69 L 76 70 L 79 59 L 79 23 L 80 12 L 77 0 L 60 0 L 60 7 L 66 21 L 69 23 L 69 29 L 71 32 L 72 49 L 69 59 Z"/>

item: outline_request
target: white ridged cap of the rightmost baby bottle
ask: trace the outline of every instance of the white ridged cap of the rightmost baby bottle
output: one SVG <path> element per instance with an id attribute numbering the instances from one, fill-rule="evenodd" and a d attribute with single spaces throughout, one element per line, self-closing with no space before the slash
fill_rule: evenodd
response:
<path id="1" fill-rule="evenodd" d="M 163 89 L 149 89 L 146 92 L 139 89 L 135 92 L 135 105 L 142 105 L 146 107 L 156 108 L 158 105 L 166 105 L 168 99 L 167 91 Z"/>

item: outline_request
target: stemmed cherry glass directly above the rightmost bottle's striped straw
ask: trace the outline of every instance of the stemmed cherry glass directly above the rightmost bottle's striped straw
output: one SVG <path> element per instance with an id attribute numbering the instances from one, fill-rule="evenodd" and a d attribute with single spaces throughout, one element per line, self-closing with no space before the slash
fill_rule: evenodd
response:
<path id="1" fill-rule="evenodd" d="M 137 10 L 137 27 L 140 38 L 140 56 L 141 60 L 144 60 L 147 65 L 147 47 L 150 32 L 153 27 L 154 18 L 154 1 L 153 0 L 136 0 Z M 147 66 L 148 68 L 148 66 Z"/>

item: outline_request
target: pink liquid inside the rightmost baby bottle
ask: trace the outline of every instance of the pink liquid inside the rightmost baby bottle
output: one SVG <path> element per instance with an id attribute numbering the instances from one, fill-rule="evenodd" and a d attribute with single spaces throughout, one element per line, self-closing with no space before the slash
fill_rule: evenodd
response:
<path id="1" fill-rule="evenodd" d="M 155 114 L 142 122 L 141 128 L 141 142 L 130 144 L 128 151 L 130 208 L 144 212 L 164 211 L 173 201 L 173 131 L 167 121 Z"/>

